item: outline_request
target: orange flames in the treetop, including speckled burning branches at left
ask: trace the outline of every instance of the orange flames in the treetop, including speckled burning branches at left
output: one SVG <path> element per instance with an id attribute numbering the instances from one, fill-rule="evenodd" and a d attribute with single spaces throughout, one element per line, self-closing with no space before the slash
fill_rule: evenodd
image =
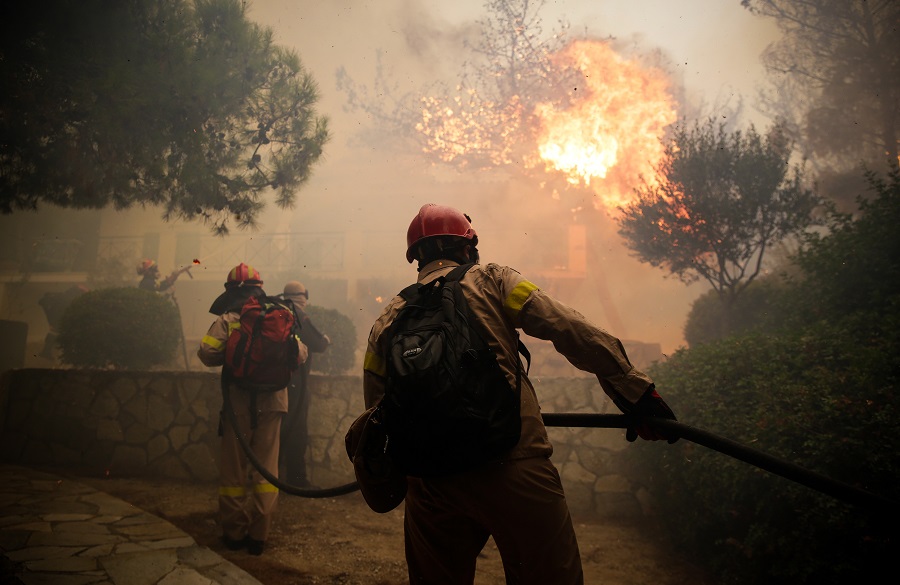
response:
<path id="1" fill-rule="evenodd" d="M 610 210 L 630 199 L 642 176 L 654 180 L 660 139 L 677 119 L 665 72 L 590 40 L 533 67 L 571 81 L 555 82 L 556 99 L 541 102 L 488 99 L 463 86 L 456 96 L 421 98 L 424 152 L 466 169 L 522 164 L 544 173 L 543 184 L 560 177 L 563 189 L 589 189 L 594 206 Z"/>

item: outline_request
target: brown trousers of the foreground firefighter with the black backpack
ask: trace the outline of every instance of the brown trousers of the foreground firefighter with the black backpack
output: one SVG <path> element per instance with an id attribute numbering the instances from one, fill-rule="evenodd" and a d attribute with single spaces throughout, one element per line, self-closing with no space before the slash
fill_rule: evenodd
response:
<path id="1" fill-rule="evenodd" d="M 546 458 L 410 478 L 404 533 L 411 585 L 471 585 L 490 536 L 508 584 L 584 583 L 559 473 Z"/>

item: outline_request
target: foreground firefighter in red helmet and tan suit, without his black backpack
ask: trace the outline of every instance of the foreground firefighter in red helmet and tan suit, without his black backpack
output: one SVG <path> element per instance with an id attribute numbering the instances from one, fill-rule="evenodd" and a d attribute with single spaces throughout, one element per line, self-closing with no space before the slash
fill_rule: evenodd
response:
<path id="1" fill-rule="evenodd" d="M 479 264 L 478 237 L 468 216 L 441 205 L 425 205 L 407 231 L 409 262 L 418 262 L 420 283 L 474 262 L 460 280 L 476 325 L 494 350 L 511 387 L 518 363 L 517 329 L 553 342 L 578 368 L 595 374 L 602 389 L 625 412 L 675 418 L 636 370 L 621 342 L 557 301 L 507 266 Z M 386 332 L 400 309 L 395 297 L 372 327 L 363 386 L 366 407 L 385 391 Z M 534 387 L 521 377 L 522 431 L 518 444 L 494 461 L 433 478 L 407 478 L 404 537 L 411 585 L 471 584 L 475 563 L 489 537 L 503 561 L 507 583 L 554 585 L 584 582 L 572 519 L 553 447 L 541 419 Z M 626 438 L 669 439 L 648 425 Z M 387 497 L 388 494 L 386 494 Z M 391 496 L 393 497 L 393 496 Z"/>

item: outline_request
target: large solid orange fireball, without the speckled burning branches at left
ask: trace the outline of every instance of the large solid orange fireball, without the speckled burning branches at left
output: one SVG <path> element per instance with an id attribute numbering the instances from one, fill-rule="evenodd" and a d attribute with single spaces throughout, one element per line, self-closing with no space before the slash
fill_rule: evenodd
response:
<path id="1" fill-rule="evenodd" d="M 598 203 L 625 203 L 643 175 L 652 180 L 660 143 L 677 119 L 663 72 L 623 59 L 604 42 L 577 41 L 554 56 L 583 76 L 565 109 L 538 104 L 538 152 L 547 171 L 592 187 Z M 599 207 L 599 205 L 597 205 Z"/>

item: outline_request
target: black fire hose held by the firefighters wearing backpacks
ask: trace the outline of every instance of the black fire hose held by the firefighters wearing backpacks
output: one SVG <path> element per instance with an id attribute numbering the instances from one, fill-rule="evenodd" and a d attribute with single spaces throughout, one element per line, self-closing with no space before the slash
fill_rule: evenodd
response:
<path id="1" fill-rule="evenodd" d="M 226 416 L 228 416 L 232 428 L 237 429 L 237 418 L 234 414 L 234 409 L 231 406 L 227 384 L 222 385 L 222 393 Z M 637 422 L 633 416 L 625 414 L 548 412 L 544 413 L 542 418 L 544 420 L 544 425 L 547 427 L 625 429 Z M 668 434 L 677 436 L 680 439 L 685 439 L 692 443 L 718 451 L 719 453 L 728 455 L 729 457 L 733 457 L 734 459 L 743 461 L 744 463 L 748 463 L 770 473 L 774 473 L 785 479 L 805 485 L 808 488 L 838 500 L 859 506 L 871 512 L 882 514 L 885 517 L 896 518 L 898 514 L 900 514 L 900 505 L 893 500 L 860 489 L 856 486 L 837 481 L 709 431 L 698 429 L 677 421 L 656 417 L 644 418 L 642 422 L 649 424 L 656 429 L 664 430 Z M 253 449 L 250 447 L 249 443 L 247 443 L 247 439 L 242 433 L 236 432 L 235 434 L 237 435 L 238 442 L 241 444 L 241 448 L 243 448 L 253 467 L 256 468 L 260 475 L 269 481 L 269 483 L 285 493 L 305 498 L 330 498 L 346 495 L 359 489 L 359 484 L 355 481 L 332 488 L 302 488 L 286 484 L 265 468 L 262 462 L 260 462 L 253 453 Z"/>

